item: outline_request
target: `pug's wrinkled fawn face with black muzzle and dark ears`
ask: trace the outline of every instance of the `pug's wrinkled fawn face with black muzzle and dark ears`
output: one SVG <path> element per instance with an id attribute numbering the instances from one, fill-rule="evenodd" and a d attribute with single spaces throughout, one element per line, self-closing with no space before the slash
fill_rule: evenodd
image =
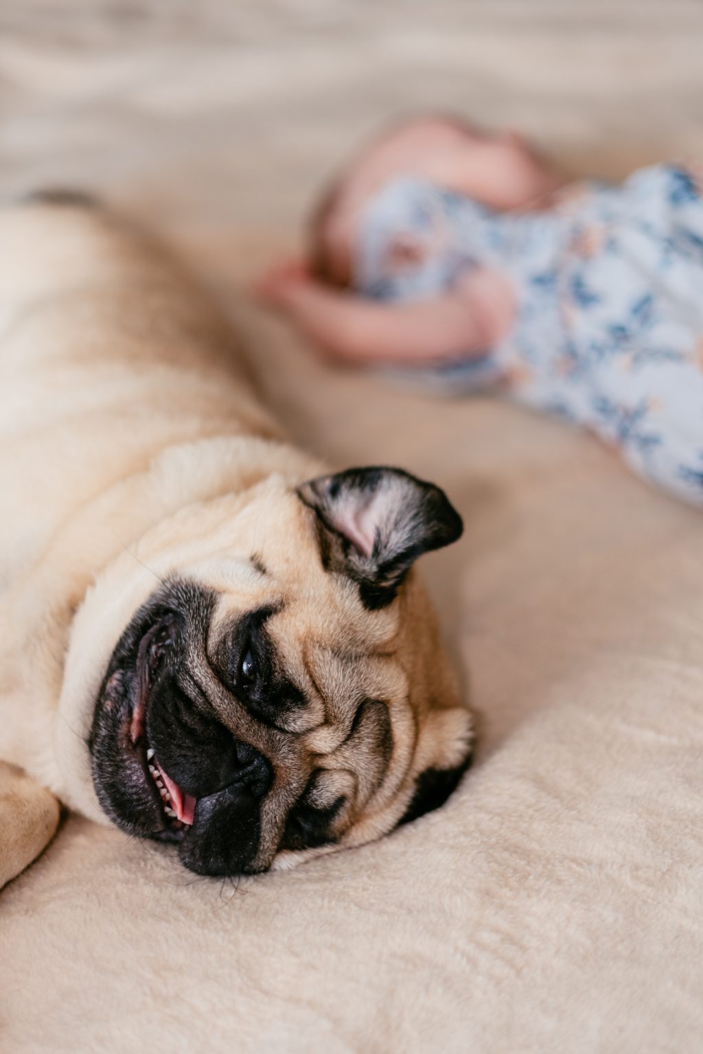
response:
<path id="1" fill-rule="evenodd" d="M 458 536 L 456 512 L 393 469 L 312 481 L 293 504 L 286 544 L 249 553 L 236 587 L 171 573 L 95 703 L 102 808 L 199 874 L 369 841 L 441 804 L 468 764 L 470 715 L 407 578 Z"/>

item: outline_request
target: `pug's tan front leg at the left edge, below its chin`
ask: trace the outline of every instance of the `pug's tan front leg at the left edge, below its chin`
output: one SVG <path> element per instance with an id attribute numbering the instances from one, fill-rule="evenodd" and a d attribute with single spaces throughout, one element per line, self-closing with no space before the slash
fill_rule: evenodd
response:
<path id="1" fill-rule="evenodd" d="M 0 761 L 0 889 L 50 843 L 59 813 L 51 790 L 21 768 Z"/>

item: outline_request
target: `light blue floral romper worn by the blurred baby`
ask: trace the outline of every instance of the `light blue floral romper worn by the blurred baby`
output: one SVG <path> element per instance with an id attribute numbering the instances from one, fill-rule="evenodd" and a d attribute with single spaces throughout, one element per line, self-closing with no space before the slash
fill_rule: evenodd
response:
<path id="1" fill-rule="evenodd" d="M 446 292 L 479 262 L 518 298 L 509 337 L 481 358 L 413 371 L 435 386 L 499 386 L 585 425 L 640 475 L 703 505 L 703 197 L 682 168 L 579 183 L 548 212 L 494 213 L 404 177 L 367 207 L 360 293 Z"/>

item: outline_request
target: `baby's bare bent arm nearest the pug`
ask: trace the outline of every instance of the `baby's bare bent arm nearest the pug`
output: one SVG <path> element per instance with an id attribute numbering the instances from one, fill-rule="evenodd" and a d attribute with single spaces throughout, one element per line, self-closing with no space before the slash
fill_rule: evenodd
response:
<path id="1" fill-rule="evenodd" d="M 287 266 L 265 278 L 258 294 L 333 357 L 359 364 L 480 357 L 508 331 L 513 310 L 507 282 L 487 270 L 442 296 L 378 304 Z"/>

